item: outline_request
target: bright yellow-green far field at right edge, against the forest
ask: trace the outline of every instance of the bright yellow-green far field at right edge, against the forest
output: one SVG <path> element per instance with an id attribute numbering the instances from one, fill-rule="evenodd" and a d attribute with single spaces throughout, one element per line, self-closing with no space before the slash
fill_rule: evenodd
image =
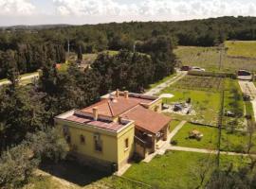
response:
<path id="1" fill-rule="evenodd" d="M 228 56 L 256 59 L 256 41 L 228 41 L 225 47 Z"/>

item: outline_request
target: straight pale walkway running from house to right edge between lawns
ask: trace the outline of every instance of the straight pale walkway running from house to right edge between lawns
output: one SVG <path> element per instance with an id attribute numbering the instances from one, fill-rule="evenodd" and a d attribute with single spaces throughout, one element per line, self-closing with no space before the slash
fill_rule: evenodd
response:
<path id="1" fill-rule="evenodd" d="M 192 147 L 181 147 L 181 146 L 169 146 L 169 150 L 174 151 L 190 151 L 190 152 L 198 152 L 198 153 L 210 153 L 210 154 L 217 154 L 217 150 L 210 150 L 210 149 L 200 149 L 200 148 L 192 148 Z M 256 155 L 245 154 L 245 153 L 236 153 L 230 151 L 221 151 L 220 154 L 229 155 L 229 156 L 252 156 L 256 157 Z"/>

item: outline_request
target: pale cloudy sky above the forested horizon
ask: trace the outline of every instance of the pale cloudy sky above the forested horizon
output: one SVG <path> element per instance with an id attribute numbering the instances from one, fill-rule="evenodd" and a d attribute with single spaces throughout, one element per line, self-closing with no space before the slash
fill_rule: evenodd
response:
<path id="1" fill-rule="evenodd" d="M 0 26 L 256 16 L 256 0 L 0 0 Z"/>

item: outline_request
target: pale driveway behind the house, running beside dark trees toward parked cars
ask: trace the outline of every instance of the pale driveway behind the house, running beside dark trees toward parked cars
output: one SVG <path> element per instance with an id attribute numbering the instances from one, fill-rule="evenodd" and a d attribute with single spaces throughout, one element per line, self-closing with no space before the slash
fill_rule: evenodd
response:
<path id="1" fill-rule="evenodd" d="M 177 76 L 170 78 L 169 80 L 155 86 L 153 89 L 151 89 L 150 91 L 148 91 L 145 94 L 148 95 L 155 95 L 155 94 L 159 94 L 163 89 L 165 89 L 166 87 L 168 87 L 169 85 L 174 84 L 174 82 L 178 81 L 179 79 L 185 77 L 187 75 L 188 72 L 184 72 L 184 71 L 177 71 Z"/>

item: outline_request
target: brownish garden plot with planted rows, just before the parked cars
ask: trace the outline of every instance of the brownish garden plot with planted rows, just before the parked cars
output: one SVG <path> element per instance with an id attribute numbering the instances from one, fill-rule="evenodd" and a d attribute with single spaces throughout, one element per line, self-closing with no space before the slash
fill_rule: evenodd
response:
<path id="1" fill-rule="evenodd" d="M 219 92 L 223 78 L 186 76 L 174 84 L 177 89 Z"/>

